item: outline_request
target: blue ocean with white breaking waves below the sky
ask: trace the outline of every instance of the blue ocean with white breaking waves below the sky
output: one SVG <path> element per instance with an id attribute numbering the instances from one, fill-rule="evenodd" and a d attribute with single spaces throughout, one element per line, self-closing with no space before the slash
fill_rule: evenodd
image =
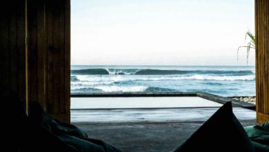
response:
<path id="1" fill-rule="evenodd" d="M 255 95 L 255 66 L 71 66 L 71 93 Z"/>

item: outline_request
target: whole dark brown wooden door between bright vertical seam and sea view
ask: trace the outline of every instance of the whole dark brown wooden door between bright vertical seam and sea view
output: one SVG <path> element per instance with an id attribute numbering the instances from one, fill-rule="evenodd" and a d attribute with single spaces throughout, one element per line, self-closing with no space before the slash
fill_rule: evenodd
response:
<path id="1" fill-rule="evenodd" d="M 28 0 L 28 100 L 70 121 L 70 0 Z"/>

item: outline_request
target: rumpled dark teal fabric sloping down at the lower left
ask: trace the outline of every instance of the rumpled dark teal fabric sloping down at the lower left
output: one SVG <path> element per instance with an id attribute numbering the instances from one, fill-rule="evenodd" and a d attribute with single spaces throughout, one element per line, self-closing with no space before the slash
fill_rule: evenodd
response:
<path id="1" fill-rule="evenodd" d="M 61 122 L 47 115 L 38 102 L 32 102 L 29 113 L 30 122 L 36 126 L 43 126 L 61 142 L 75 149 L 75 151 L 118 152 L 119 149 L 101 140 L 93 140 L 72 124 Z"/>

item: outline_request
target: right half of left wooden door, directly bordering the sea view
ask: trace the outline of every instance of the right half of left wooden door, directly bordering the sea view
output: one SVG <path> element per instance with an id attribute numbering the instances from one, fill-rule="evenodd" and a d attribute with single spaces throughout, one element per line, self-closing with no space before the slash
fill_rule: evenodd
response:
<path id="1" fill-rule="evenodd" d="M 70 122 L 70 0 L 47 0 L 46 14 L 47 110 Z"/>

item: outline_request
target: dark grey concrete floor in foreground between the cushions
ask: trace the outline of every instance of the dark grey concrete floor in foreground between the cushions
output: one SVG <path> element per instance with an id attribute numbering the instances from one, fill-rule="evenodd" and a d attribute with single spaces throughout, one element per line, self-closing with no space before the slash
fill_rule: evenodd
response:
<path id="1" fill-rule="evenodd" d="M 240 120 L 243 126 L 256 120 Z M 90 138 L 106 141 L 122 151 L 173 151 L 194 133 L 203 122 L 117 122 L 73 123 Z"/>

